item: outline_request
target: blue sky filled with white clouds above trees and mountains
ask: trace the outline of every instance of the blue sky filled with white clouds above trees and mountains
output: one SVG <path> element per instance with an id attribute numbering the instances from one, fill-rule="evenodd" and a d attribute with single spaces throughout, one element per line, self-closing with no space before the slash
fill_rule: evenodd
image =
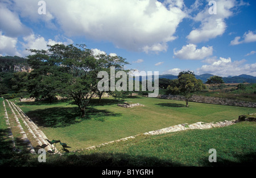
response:
<path id="1" fill-rule="evenodd" d="M 126 69 L 256 76 L 254 0 L 0 0 L 0 56 L 85 44 Z"/>

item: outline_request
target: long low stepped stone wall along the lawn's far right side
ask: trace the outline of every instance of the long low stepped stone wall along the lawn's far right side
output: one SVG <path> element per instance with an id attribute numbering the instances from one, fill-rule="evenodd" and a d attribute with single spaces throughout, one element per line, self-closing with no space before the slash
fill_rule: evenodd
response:
<path id="1" fill-rule="evenodd" d="M 185 101 L 184 96 L 159 95 L 158 98 L 168 99 L 168 100 Z M 197 95 L 193 95 L 189 99 L 189 101 L 201 102 L 201 103 L 206 103 L 206 104 L 216 104 L 216 105 L 256 107 L 256 102 L 246 102 L 246 101 L 234 100 L 234 99 L 229 99 L 229 98 L 207 97 L 207 96 L 197 96 Z"/>

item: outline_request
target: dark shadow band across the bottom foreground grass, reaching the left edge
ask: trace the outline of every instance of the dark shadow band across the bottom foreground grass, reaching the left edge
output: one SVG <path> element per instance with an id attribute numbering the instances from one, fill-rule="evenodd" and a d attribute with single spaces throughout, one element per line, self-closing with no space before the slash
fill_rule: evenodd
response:
<path id="1" fill-rule="evenodd" d="M 7 138 L 8 129 L 0 129 L 0 166 L 7 167 L 184 167 L 188 166 L 171 159 L 160 159 L 155 156 L 131 155 L 126 153 L 93 153 L 93 154 L 64 154 L 47 155 L 46 163 L 38 162 L 38 155 L 28 154 L 27 151 L 20 153 L 12 151 L 11 141 Z M 15 139 L 16 146 L 22 146 L 23 141 Z M 233 160 L 217 156 L 216 163 L 210 163 L 208 158 L 199 159 L 201 167 L 255 167 L 256 154 L 234 154 Z"/>

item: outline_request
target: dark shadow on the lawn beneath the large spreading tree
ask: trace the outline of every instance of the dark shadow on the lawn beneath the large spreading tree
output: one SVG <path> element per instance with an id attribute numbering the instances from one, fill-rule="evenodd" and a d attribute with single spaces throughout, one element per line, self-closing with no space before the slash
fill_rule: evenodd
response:
<path id="1" fill-rule="evenodd" d="M 94 118 L 96 121 L 104 122 L 109 116 L 118 117 L 122 114 L 113 113 L 108 110 L 97 110 L 92 107 L 86 110 L 86 115 L 81 118 L 79 107 L 49 107 L 28 111 L 27 116 L 42 127 L 67 127 L 86 119 Z"/>

